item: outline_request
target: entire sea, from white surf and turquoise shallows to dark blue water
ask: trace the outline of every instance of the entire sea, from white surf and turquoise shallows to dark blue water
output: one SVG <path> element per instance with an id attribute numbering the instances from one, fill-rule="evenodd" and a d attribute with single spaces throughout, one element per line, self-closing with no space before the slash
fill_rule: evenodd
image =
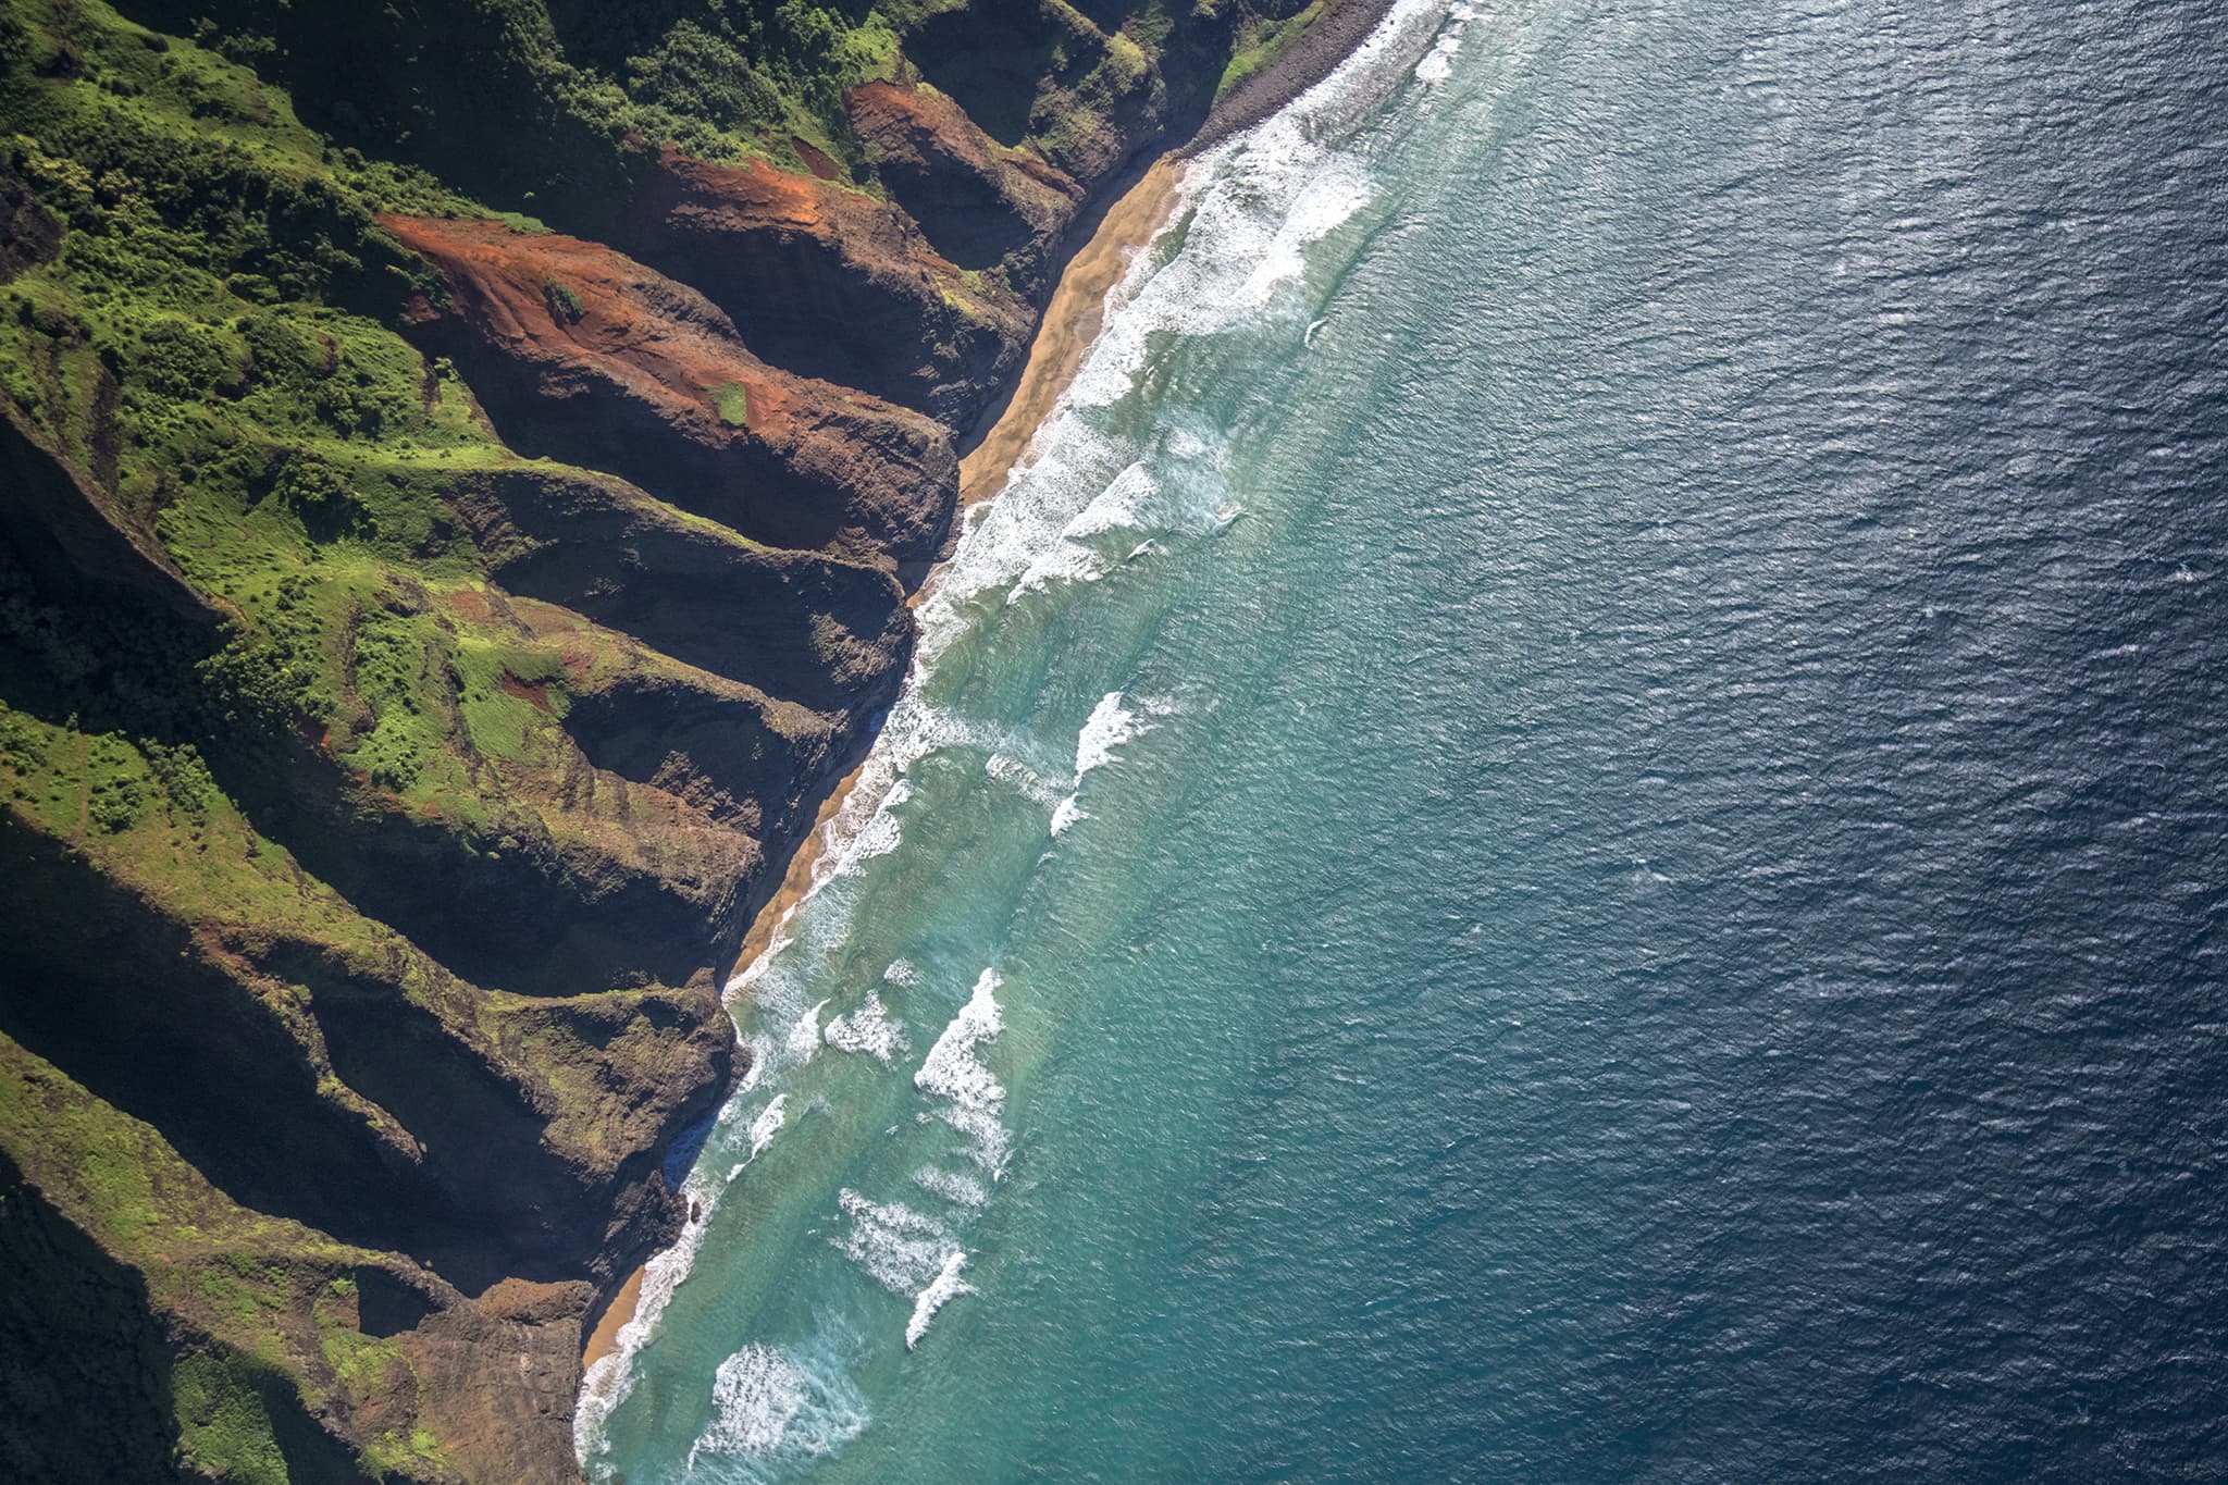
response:
<path id="1" fill-rule="evenodd" d="M 2215 1474 L 2219 20 L 1404 4 L 1203 163 L 590 1474 Z"/>

